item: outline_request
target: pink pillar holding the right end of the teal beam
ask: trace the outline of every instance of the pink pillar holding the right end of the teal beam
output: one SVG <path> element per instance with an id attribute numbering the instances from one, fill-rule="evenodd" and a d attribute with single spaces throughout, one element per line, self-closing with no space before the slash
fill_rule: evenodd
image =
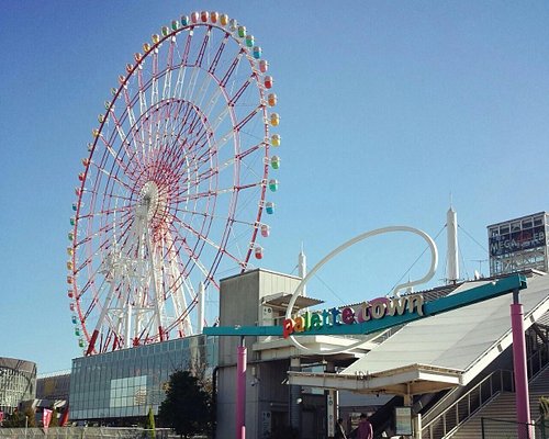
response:
<path id="1" fill-rule="evenodd" d="M 533 438 L 530 423 L 530 402 L 528 396 L 528 374 L 526 371 L 526 347 L 524 340 L 523 305 L 518 293 L 514 293 L 511 305 L 511 328 L 513 331 L 513 363 L 515 372 L 515 397 L 517 438 Z"/>

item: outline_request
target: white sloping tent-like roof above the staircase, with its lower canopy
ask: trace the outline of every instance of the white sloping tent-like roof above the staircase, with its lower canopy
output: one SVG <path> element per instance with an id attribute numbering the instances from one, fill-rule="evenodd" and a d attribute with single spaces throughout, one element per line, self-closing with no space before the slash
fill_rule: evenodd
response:
<path id="1" fill-rule="evenodd" d="M 467 282 L 452 294 L 482 283 L 486 281 Z M 332 374 L 329 387 L 415 394 L 467 384 L 512 344 L 511 303 L 512 294 L 505 294 L 410 323 L 336 376 Z M 549 311 L 549 275 L 529 278 L 520 303 L 526 329 Z M 388 376 L 391 386 L 384 386 Z M 313 382 L 321 382 L 320 376 L 290 373 L 291 384 L 314 386 Z"/>

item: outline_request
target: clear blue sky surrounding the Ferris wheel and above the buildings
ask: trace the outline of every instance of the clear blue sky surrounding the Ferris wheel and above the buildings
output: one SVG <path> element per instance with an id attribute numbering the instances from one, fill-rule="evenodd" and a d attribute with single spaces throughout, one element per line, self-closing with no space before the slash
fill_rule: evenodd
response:
<path id="1" fill-rule="evenodd" d="M 488 224 L 549 209 L 545 1 L 4 0 L 0 356 L 44 373 L 81 353 L 65 281 L 80 159 L 133 54 L 161 25 L 202 9 L 245 24 L 276 80 L 283 161 L 261 267 L 291 272 L 302 243 L 312 267 L 385 225 L 435 236 L 451 193 L 472 237 L 460 236 L 471 277 L 474 260 L 486 259 Z M 437 244 L 432 284 L 445 277 L 444 234 Z M 423 249 L 406 236 L 363 243 L 326 267 L 310 294 L 328 303 L 385 294 Z M 410 277 L 426 267 L 421 260 Z"/>

